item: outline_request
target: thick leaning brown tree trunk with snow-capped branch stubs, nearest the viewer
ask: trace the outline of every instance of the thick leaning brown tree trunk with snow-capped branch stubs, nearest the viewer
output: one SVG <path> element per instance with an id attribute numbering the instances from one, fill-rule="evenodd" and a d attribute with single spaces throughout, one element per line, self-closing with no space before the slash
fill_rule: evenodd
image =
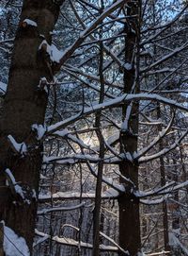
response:
<path id="1" fill-rule="evenodd" d="M 34 237 L 39 191 L 39 170 L 42 145 L 32 131 L 33 124 L 43 124 L 47 105 L 41 77 L 52 80 L 52 62 L 46 52 L 46 43 L 51 43 L 51 33 L 63 1 L 24 0 L 19 27 L 13 49 L 8 78 L 8 92 L 4 113 L 0 121 L 0 219 L 17 234 L 24 237 L 30 251 Z M 60 3 L 61 2 L 61 3 Z M 11 135 L 20 146 L 16 151 Z M 10 170 L 22 193 L 16 190 L 15 182 L 6 176 Z M 6 180 L 9 179 L 9 183 Z M 10 182 L 11 181 L 11 182 Z"/>

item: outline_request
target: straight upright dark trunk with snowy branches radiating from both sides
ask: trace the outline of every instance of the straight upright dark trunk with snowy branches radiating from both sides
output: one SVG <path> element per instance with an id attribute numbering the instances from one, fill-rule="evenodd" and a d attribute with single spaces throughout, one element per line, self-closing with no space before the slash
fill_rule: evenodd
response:
<path id="1" fill-rule="evenodd" d="M 138 62 L 134 54 L 139 44 L 138 31 L 138 14 L 139 6 L 137 3 L 130 4 L 128 7 L 128 16 L 136 15 L 136 18 L 128 19 L 125 28 L 127 34 L 125 39 L 125 61 L 128 63 L 124 73 L 124 93 L 138 93 Z M 139 47 L 138 47 L 139 48 Z M 137 50 L 139 51 L 139 49 Z M 137 60 L 138 61 L 138 60 Z M 136 68 L 135 68 L 136 67 Z M 135 71 L 137 70 L 137 72 Z M 137 75 L 136 75 L 137 74 Z M 125 104 L 122 108 L 123 125 L 120 132 L 120 152 L 132 155 L 137 151 L 137 134 L 138 134 L 138 104 Z M 137 255 L 141 247 L 140 241 L 140 219 L 139 219 L 139 200 L 133 196 L 133 191 L 138 188 L 138 165 L 136 162 L 124 160 L 119 164 L 120 173 L 131 180 L 126 183 L 124 179 L 121 182 L 125 184 L 126 193 L 118 198 L 119 206 L 119 246 L 128 250 L 130 255 Z M 119 255 L 124 255 L 119 252 Z"/>

